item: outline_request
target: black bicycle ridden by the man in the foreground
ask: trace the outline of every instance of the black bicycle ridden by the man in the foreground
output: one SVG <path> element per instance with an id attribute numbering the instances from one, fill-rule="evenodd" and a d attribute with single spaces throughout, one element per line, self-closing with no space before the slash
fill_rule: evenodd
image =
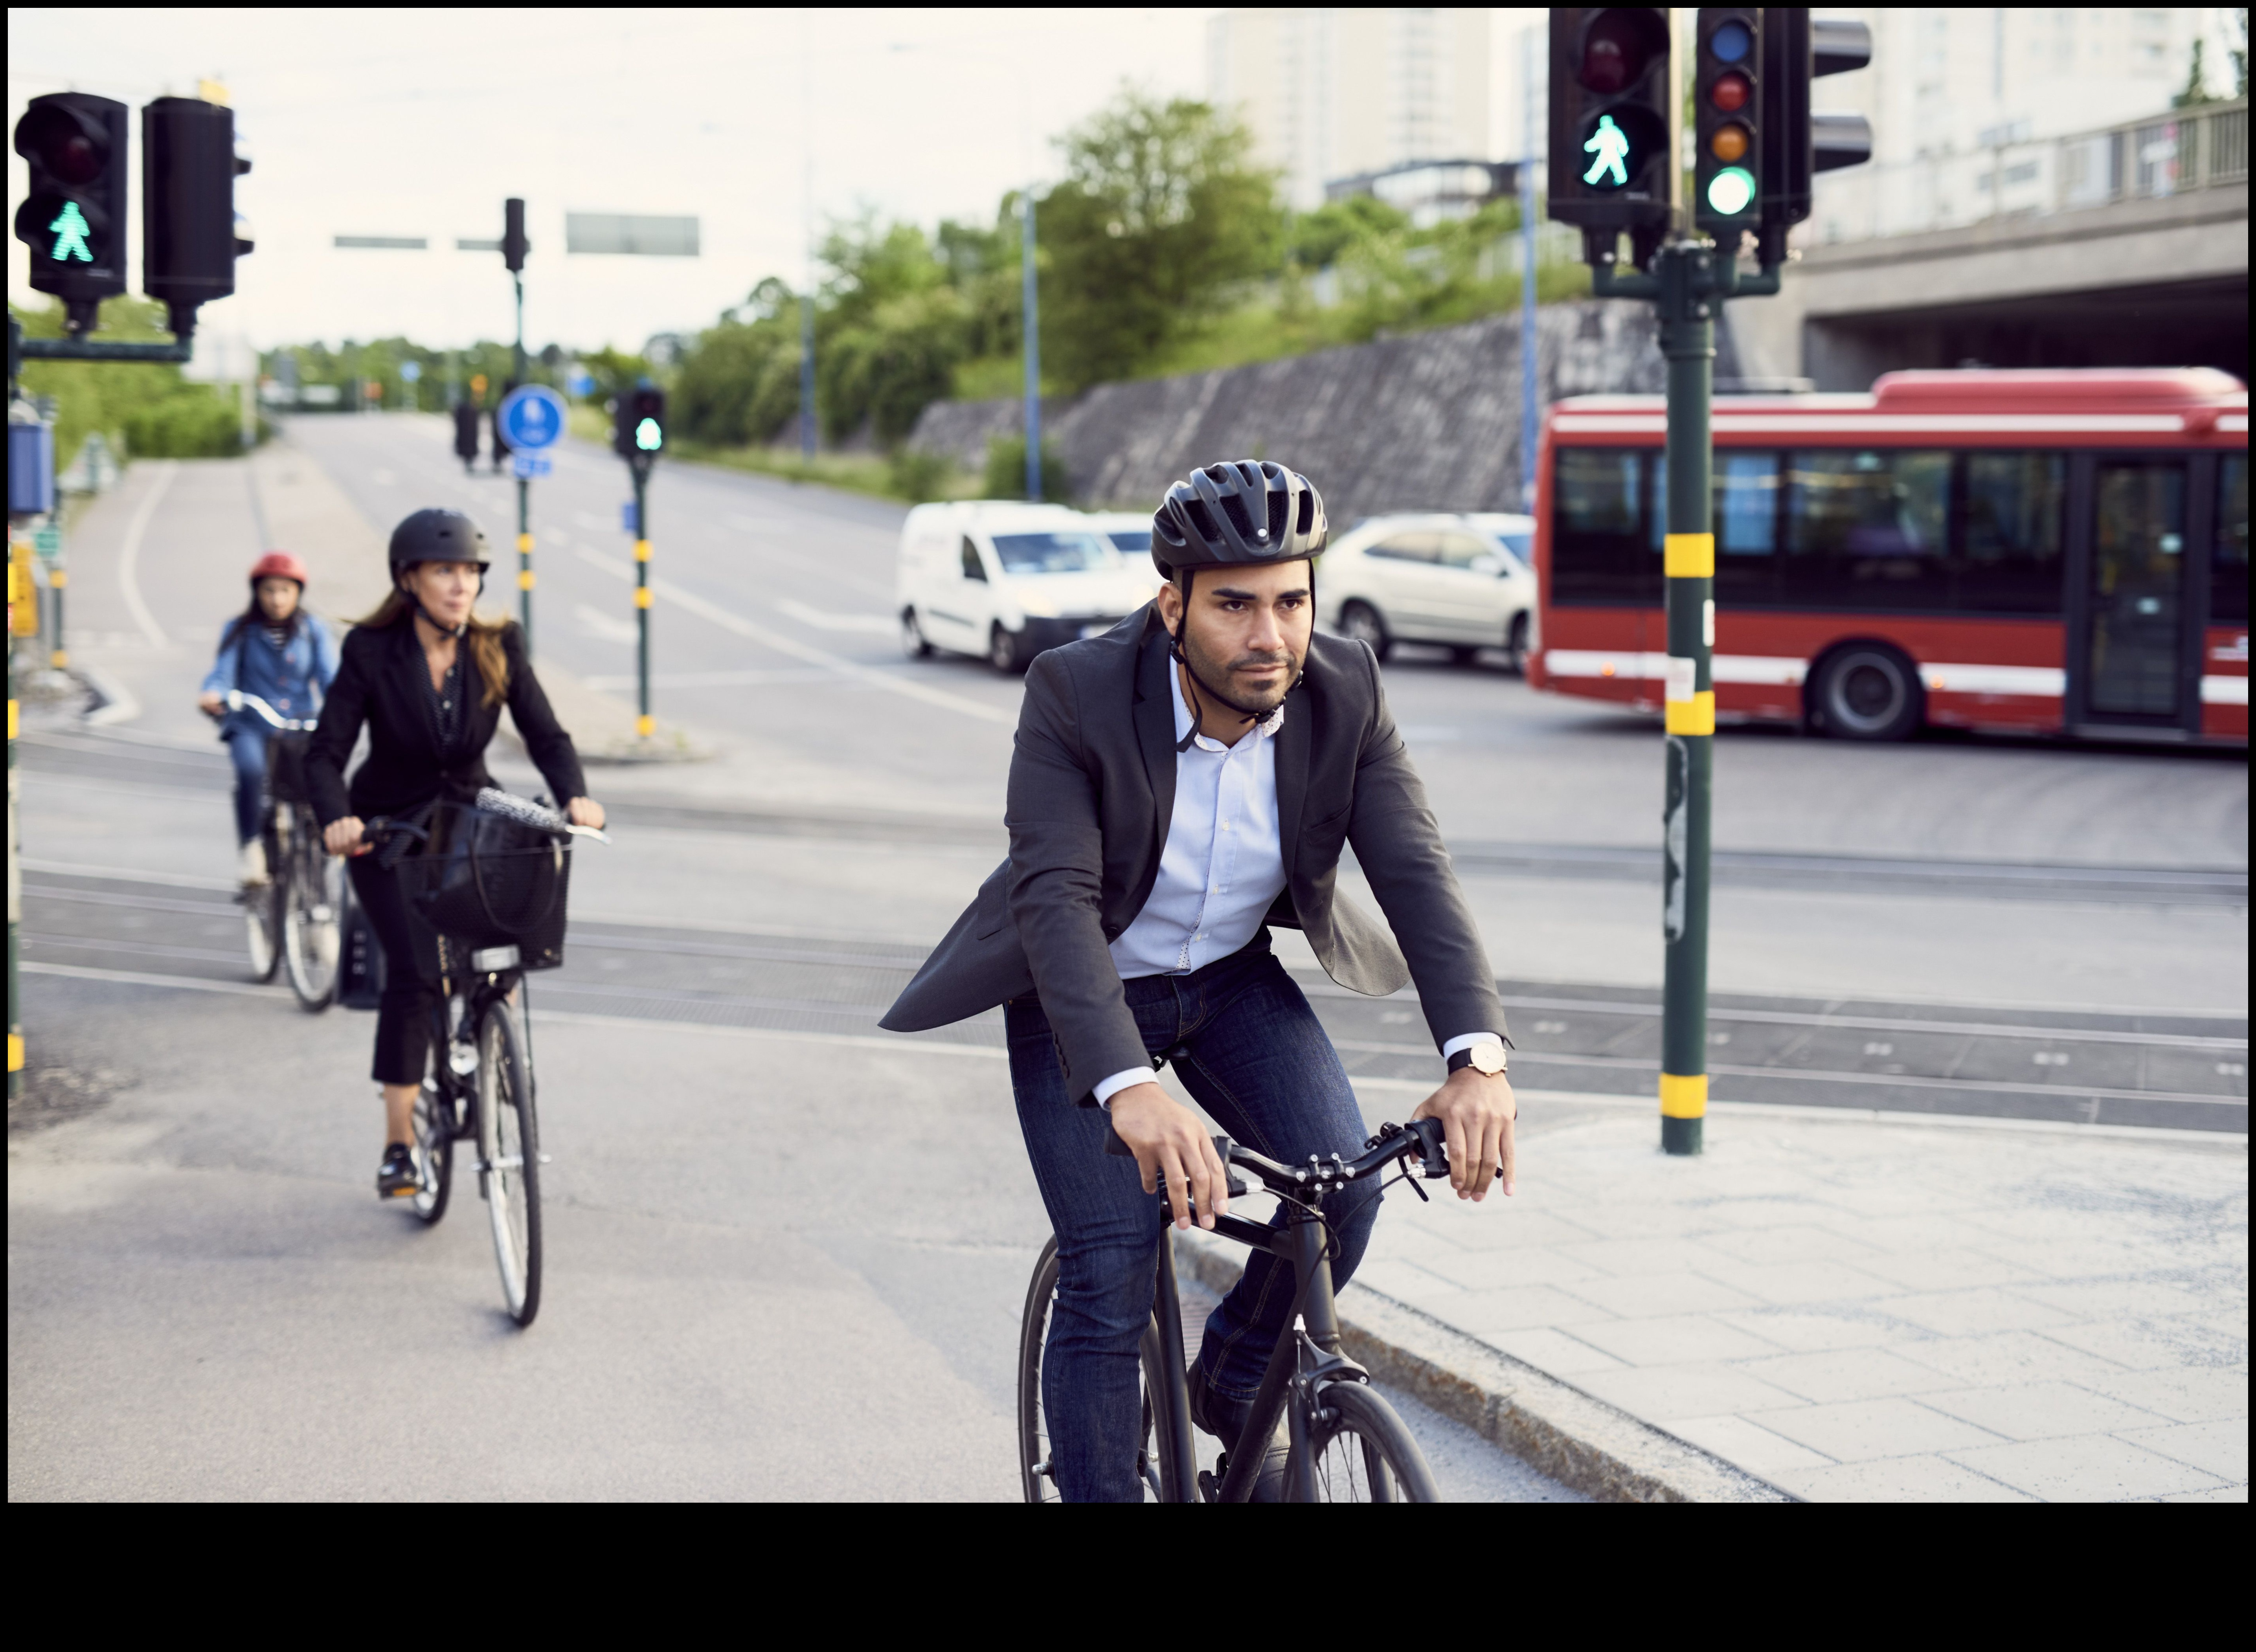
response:
<path id="1" fill-rule="evenodd" d="M 1105 1151 L 1128 1153 L 1108 1128 Z M 1173 1244 L 1160 1241 L 1160 1286 L 1151 1325 L 1144 1329 L 1144 1433 L 1137 1440 L 1137 1474 L 1146 1501 L 1155 1503 L 1248 1503 L 1261 1478 L 1279 1420 L 1286 1424 L 1288 1458 L 1284 1499 L 1290 1503 L 1439 1503 L 1433 1469 L 1410 1429 L 1378 1392 L 1369 1372 L 1340 1352 L 1340 1316 L 1331 1295 L 1331 1259 L 1338 1246 L 1324 1221 L 1324 1205 L 1358 1183 L 1383 1178 L 1396 1165 L 1419 1198 L 1419 1178 L 1448 1176 L 1442 1122 L 1417 1119 L 1408 1128 L 1381 1124 L 1358 1158 L 1311 1158 L 1279 1165 L 1214 1137 L 1214 1151 L 1232 1171 L 1250 1171 L 1284 1207 L 1281 1225 L 1216 1216 L 1214 1232 L 1250 1250 L 1268 1250 L 1293 1268 L 1293 1313 L 1277 1338 L 1268 1372 L 1254 1395 L 1245 1431 L 1225 1442 L 1214 1469 L 1200 1469 L 1191 1429 L 1191 1388 L 1182 1336 L 1182 1302 L 1175 1293 Z M 1392 1183 L 1381 1183 L 1392 1185 Z M 1250 1192 L 1234 1174 L 1230 1196 Z M 1155 1194 L 1157 1196 L 1157 1194 Z M 1042 1246 L 1026 1289 L 1026 1311 L 1017 1341 L 1017 1460 L 1029 1503 L 1056 1503 L 1058 1487 L 1042 1422 L 1042 1345 L 1058 1293 L 1058 1241 Z"/>

